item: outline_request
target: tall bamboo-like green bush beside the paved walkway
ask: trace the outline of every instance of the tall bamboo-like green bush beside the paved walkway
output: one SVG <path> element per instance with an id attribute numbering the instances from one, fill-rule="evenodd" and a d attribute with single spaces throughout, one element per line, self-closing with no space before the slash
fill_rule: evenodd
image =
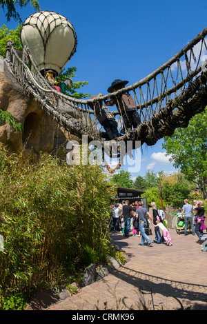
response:
<path id="1" fill-rule="evenodd" d="M 0 174 L 1 301 L 106 261 L 114 188 L 99 166 L 48 155 L 31 165 L 1 147 Z"/>

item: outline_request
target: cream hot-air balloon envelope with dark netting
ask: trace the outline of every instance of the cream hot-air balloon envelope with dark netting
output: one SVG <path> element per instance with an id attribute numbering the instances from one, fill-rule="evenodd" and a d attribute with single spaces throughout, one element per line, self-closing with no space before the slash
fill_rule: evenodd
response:
<path id="1" fill-rule="evenodd" d="M 76 52 L 77 35 L 66 17 L 41 11 L 23 23 L 21 43 L 27 45 L 40 71 L 52 69 L 59 74 Z"/>

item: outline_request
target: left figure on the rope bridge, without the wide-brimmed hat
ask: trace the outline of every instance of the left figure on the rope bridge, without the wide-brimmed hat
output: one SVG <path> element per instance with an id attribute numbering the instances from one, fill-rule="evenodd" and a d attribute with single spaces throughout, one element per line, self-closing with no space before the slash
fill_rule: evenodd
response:
<path id="1" fill-rule="evenodd" d="M 92 96 L 90 99 L 94 99 L 97 97 L 101 97 L 102 94 L 99 94 L 98 96 Z M 115 139 L 119 137 L 119 132 L 118 132 L 118 124 L 117 121 L 114 117 L 114 115 L 110 112 L 110 110 L 103 106 L 102 101 L 95 103 L 88 103 L 90 108 L 95 109 L 95 116 L 99 123 L 103 126 L 104 130 L 106 132 L 103 132 L 102 135 L 103 137 L 110 141 L 111 139 Z"/>

